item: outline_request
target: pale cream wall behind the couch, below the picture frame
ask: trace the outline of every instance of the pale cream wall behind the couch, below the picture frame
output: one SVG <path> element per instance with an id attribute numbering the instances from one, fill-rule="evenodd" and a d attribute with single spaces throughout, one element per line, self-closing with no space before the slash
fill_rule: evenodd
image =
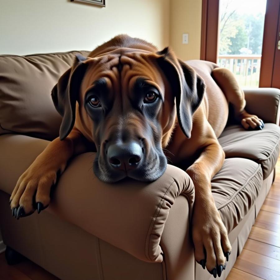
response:
<path id="1" fill-rule="evenodd" d="M 172 0 L 171 0 L 172 1 Z M 170 0 L 0 0 L 0 54 L 92 50 L 114 35 L 169 43 Z"/>

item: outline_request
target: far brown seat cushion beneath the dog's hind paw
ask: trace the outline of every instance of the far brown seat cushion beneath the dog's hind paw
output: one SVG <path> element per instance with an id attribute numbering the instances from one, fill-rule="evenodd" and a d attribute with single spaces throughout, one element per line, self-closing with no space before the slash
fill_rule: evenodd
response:
<path id="1" fill-rule="evenodd" d="M 263 130 L 248 131 L 232 125 L 223 131 L 219 142 L 226 158 L 243 157 L 262 166 L 264 179 L 272 172 L 279 156 L 280 128 L 265 124 Z"/>

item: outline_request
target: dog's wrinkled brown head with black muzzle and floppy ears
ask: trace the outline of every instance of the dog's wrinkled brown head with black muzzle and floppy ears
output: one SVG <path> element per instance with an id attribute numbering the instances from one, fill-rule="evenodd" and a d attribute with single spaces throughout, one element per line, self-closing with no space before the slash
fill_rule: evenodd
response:
<path id="1" fill-rule="evenodd" d="M 203 93 L 202 79 L 166 48 L 77 56 L 52 98 L 63 117 L 60 139 L 76 119 L 75 126 L 95 143 L 93 170 L 100 180 L 153 181 L 166 169 L 162 147 L 171 137 L 176 114 L 189 138 Z"/>

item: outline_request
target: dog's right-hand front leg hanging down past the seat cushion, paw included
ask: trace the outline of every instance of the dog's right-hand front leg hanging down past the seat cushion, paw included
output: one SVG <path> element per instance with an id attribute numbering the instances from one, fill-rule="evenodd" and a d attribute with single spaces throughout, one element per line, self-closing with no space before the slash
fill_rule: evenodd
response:
<path id="1" fill-rule="evenodd" d="M 205 140 L 199 158 L 186 170 L 195 187 L 192 220 L 195 259 L 203 268 L 206 264 L 215 278 L 221 275 L 231 252 L 226 228 L 211 193 L 211 179 L 221 169 L 224 157 L 217 138 L 210 137 Z"/>

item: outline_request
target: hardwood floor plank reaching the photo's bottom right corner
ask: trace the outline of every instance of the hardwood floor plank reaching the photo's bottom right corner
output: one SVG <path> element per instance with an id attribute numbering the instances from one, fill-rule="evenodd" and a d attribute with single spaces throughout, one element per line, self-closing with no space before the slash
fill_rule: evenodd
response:
<path id="1" fill-rule="evenodd" d="M 234 268 L 267 280 L 280 280 L 280 261 L 243 249 Z"/>

